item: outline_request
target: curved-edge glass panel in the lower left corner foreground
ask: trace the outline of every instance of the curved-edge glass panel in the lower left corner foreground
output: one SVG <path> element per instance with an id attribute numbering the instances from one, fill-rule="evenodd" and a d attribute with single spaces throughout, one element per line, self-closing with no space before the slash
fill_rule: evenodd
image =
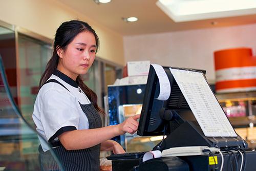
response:
<path id="1" fill-rule="evenodd" d="M 40 136 L 22 118 L 7 85 L 0 56 L 0 169 L 63 170 L 52 150 L 39 154 Z"/>

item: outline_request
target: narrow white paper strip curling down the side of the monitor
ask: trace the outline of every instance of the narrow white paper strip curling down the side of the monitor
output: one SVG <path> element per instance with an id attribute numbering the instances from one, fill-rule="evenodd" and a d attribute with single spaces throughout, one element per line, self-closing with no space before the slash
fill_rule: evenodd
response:
<path id="1" fill-rule="evenodd" d="M 160 91 L 159 96 L 157 97 L 158 100 L 167 100 L 170 96 L 170 82 L 168 79 L 167 74 L 165 73 L 162 66 L 157 64 L 151 64 L 157 74 L 159 85 L 160 85 Z"/>

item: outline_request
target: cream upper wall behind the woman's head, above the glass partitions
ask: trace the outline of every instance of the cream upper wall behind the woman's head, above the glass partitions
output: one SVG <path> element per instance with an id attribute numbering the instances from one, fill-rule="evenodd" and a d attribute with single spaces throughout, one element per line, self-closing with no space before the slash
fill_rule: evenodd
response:
<path id="1" fill-rule="evenodd" d="M 0 20 L 50 39 L 62 22 L 71 19 L 84 20 L 95 29 L 100 39 L 99 57 L 124 65 L 123 37 L 89 17 L 54 0 L 0 0 Z"/>

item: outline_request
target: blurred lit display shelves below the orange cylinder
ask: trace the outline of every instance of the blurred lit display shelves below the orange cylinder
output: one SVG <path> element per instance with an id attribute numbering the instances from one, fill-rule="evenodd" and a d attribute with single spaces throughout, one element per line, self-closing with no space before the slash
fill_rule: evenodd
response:
<path id="1" fill-rule="evenodd" d="M 236 132 L 249 148 L 256 147 L 256 92 L 216 94 Z"/>

